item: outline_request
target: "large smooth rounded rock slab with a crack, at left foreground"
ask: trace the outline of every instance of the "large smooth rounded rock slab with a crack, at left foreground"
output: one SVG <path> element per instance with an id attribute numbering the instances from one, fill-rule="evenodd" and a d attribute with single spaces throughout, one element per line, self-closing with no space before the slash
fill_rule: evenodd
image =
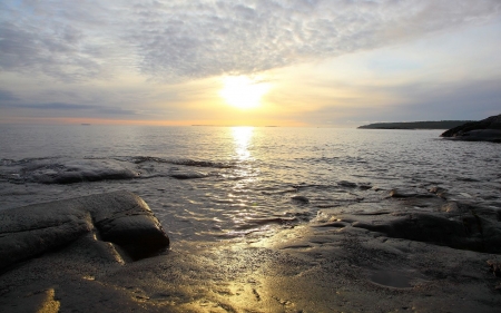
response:
<path id="1" fill-rule="evenodd" d="M 139 260 L 169 245 L 148 205 L 128 192 L 0 211 L 0 271 L 91 235 Z"/>

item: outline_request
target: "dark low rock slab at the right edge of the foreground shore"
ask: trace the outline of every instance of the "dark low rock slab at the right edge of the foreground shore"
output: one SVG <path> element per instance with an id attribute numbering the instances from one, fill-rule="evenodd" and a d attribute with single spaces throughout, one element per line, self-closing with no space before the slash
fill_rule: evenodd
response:
<path id="1" fill-rule="evenodd" d="M 501 208 L 405 194 L 377 204 L 323 209 L 320 228 L 356 227 L 386 237 L 458 250 L 501 253 Z"/>

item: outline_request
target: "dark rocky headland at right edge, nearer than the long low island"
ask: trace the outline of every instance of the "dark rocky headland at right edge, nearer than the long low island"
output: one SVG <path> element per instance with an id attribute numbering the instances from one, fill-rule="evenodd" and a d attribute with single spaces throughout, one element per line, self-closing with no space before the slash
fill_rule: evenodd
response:
<path id="1" fill-rule="evenodd" d="M 501 114 L 451 128 L 440 135 L 440 137 L 501 143 Z"/>

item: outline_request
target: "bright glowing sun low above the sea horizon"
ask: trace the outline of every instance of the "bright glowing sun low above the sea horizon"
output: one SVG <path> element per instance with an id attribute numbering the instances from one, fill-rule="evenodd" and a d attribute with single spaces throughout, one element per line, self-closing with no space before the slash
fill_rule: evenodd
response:
<path id="1" fill-rule="evenodd" d="M 247 76 L 227 76 L 223 78 L 223 89 L 219 96 L 225 101 L 239 109 L 252 109 L 261 105 L 261 98 L 268 92 L 269 84 Z"/>

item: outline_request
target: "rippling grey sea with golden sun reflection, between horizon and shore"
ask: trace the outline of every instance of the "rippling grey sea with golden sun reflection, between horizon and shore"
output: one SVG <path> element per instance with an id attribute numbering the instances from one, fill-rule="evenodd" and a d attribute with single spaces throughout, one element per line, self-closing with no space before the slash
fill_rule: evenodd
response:
<path id="1" fill-rule="evenodd" d="M 219 241 L 439 186 L 501 207 L 501 145 L 441 130 L 0 126 L 0 209 L 127 189 L 170 237 Z"/>

